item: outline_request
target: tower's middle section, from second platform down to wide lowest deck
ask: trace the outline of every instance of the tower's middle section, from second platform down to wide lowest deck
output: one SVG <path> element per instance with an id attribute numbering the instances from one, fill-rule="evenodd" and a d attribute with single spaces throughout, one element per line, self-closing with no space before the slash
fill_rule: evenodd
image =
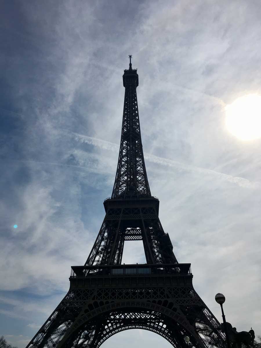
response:
<path id="1" fill-rule="evenodd" d="M 129 208 L 127 203 L 122 199 L 121 207 L 107 209 L 85 266 L 121 264 L 126 240 L 142 240 L 147 263 L 177 263 L 169 235 L 164 232 L 158 217 L 158 200 L 143 199 L 140 205 L 147 205 L 144 207 Z M 135 203 L 138 205 L 139 200 Z"/>

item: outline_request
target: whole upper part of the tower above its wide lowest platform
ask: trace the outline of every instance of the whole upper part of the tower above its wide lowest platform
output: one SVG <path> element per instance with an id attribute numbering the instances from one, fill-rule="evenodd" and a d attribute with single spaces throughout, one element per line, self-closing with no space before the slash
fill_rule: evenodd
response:
<path id="1" fill-rule="evenodd" d="M 141 143 L 138 84 L 137 70 L 132 69 L 130 62 L 123 75 L 124 110 L 112 202 L 104 205 L 106 216 L 86 266 L 121 264 L 126 240 L 142 240 L 147 263 L 177 262 L 169 236 L 159 221 L 159 201 L 150 193 Z M 117 200 L 117 206 L 113 200 Z"/>

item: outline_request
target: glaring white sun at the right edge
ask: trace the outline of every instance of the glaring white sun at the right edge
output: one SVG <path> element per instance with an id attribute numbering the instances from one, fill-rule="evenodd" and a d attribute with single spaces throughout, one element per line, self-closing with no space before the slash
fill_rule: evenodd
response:
<path id="1" fill-rule="evenodd" d="M 241 140 L 261 137 L 261 96 L 247 94 L 225 106 L 226 126 Z"/>

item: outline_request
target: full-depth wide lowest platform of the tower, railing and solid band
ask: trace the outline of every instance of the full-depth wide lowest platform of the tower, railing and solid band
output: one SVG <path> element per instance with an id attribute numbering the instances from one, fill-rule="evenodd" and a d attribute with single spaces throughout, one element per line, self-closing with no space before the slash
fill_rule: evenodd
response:
<path id="1" fill-rule="evenodd" d="M 190 263 L 72 266 L 70 288 L 192 286 Z"/>

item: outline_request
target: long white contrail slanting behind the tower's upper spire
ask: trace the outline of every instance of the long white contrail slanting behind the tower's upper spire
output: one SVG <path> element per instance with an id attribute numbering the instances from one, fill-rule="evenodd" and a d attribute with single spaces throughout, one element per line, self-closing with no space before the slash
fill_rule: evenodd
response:
<path id="1" fill-rule="evenodd" d="M 111 143 L 111 142 L 106 141 L 106 140 L 101 140 L 101 139 L 97 139 L 94 137 L 90 137 L 87 135 L 82 135 L 82 134 L 70 132 L 69 130 L 66 130 L 66 129 L 64 129 L 64 130 L 67 133 L 73 135 L 74 139 L 81 142 L 81 143 L 92 144 L 92 145 L 97 146 L 101 149 L 117 151 L 117 152 L 119 151 L 118 144 Z M 184 164 L 181 162 L 173 161 L 171 159 L 151 155 L 150 153 L 144 153 L 144 158 L 152 163 L 158 163 L 158 164 L 169 166 L 169 167 L 175 167 L 177 169 L 183 169 L 183 170 L 189 171 L 189 172 L 194 172 L 194 173 L 199 173 L 199 174 L 207 174 L 207 175 L 219 177 L 220 179 L 238 184 L 240 187 L 248 187 L 248 188 L 261 187 L 260 182 L 251 182 L 248 179 L 245 179 L 243 177 L 227 175 L 224 173 L 216 172 L 216 171 L 211 170 L 211 169 L 191 166 L 191 165 Z"/>

